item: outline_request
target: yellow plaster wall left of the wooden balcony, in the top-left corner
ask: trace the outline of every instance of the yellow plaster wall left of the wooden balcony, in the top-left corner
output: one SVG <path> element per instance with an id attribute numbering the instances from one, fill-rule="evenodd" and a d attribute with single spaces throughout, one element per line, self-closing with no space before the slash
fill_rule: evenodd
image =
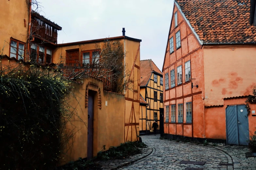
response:
<path id="1" fill-rule="evenodd" d="M 28 7 L 26 0 L 8 1 L 0 3 L 0 49 L 9 56 L 10 37 L 26 43 L 28 31 Z M 26 19 L 26 27 L 24 25 Z"/>

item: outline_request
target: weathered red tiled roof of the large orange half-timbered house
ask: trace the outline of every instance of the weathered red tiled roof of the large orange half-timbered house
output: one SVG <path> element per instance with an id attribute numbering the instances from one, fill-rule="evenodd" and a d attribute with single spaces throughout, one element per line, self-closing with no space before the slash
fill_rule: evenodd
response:
<path id="1" fill-rule="evenodd" d="M 255 42 L 250 0 L 176 0 L 203 43 Z"/>

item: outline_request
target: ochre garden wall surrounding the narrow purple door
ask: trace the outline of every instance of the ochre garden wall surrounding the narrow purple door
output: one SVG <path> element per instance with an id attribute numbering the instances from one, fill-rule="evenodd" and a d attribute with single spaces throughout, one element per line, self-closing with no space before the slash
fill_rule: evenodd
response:
<path id="1" fill-rule="evenodd" d="M 98 88 L 90 88 L 95 91 L 94 95 L 94 152 L 96 156 L 99 151 L 104 151 L 111 146 L 119 146 L 124 142 L 124 110 L 125 98 L 123 95 L 103 91 L 103 82 L 95 78 L 87 78 L 82 80 L 83 83 L 72 83 L 75 88 L 72 92 L 76 98 L 70 99 L 70 106 L 74 108 L 75 115 L 70 123 L 67 124 L 67 132 L 74 133 L 74 138 L 69 141 L 72 146 L 64 156 L 64 162 L 76 161 L 87 157 L 87 120 L 88 107 L 86 106 L 86 85 L 94 83 Z M 98 106 L 98 90 L 101 94 L 101 109 Z M 105 106 L 105 101 L 108 101 Z M 117 107 L 118 106 L 118 107 Z M 73 111 L 73 109 L 71 109 Z M 79 117 L 78 117 L 79 116 Z M 114 130 L 113 130 L 114 129 Z M 63 164 L 63 163 L 62 163 Z"/>

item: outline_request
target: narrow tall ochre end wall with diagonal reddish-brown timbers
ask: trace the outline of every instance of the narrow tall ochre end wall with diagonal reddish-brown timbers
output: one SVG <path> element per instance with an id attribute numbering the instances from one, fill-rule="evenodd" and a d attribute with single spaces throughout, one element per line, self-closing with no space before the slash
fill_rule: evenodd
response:
<path id="1" fill-rule="evenodd" d="M 140 42 L 125 39 L 125 57 L 132 80 L 125 92 L 125 141 L 137 141 L 140 118 Z"/>

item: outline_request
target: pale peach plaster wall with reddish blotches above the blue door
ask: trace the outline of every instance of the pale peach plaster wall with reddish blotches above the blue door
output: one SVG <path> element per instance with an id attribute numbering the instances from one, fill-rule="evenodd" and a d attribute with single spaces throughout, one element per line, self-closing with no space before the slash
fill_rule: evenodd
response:
<path id="1" fill-rule="evenodd" d="M 211 49 L 210 49 L 211 48 Z M 204 47 L 205 106 L 223 98 L 252 94 L 256 85 L 256 47 Z"/>

